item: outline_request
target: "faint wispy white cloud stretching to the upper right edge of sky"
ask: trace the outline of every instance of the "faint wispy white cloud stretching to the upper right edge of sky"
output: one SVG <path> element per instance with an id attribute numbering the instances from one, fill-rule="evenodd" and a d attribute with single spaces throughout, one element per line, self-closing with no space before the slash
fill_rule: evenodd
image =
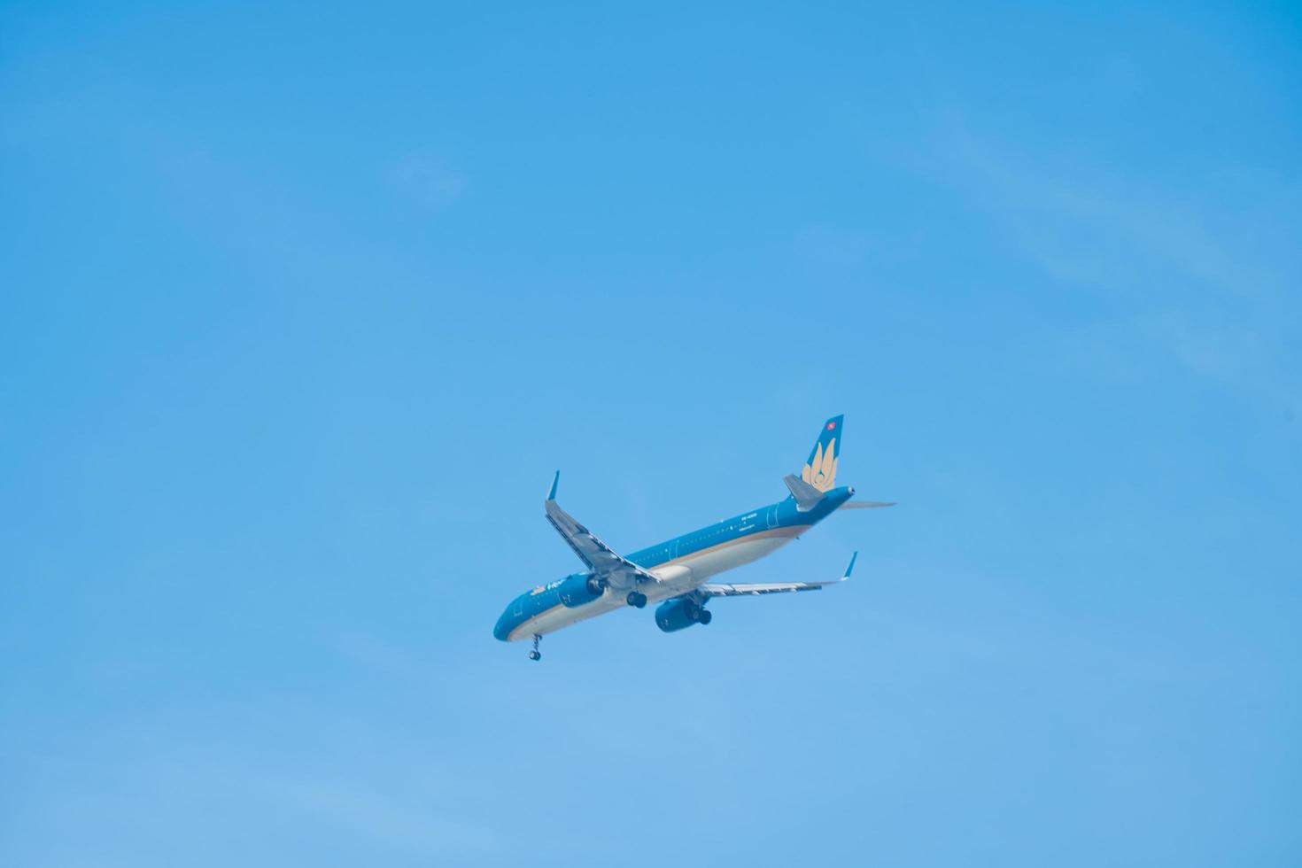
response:
<path id="1" fill-rule="evenodd" d="M 1284 229 L 1302 223 L 1298 185 L 1240 168 L 1233 197 L 1177 190 L 1079 155 L 1001 144 L 956 117 L 937 128 L 926 170 L 1047 277 L 1111 302 L 1112 321 L 1083 327 L 1077 342 L 1131 358 L 1126 347 L 1156 349 L 1195 376 L 1302 409 L 1289 333 L 1302 259 Z M 1098 363 L 1115 367 L 1116 354 Z"/>

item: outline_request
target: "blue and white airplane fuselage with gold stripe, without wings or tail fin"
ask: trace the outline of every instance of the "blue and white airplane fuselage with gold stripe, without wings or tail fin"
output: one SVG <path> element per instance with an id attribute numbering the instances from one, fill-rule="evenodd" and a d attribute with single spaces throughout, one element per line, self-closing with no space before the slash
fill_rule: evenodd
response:
<path id="1" fill-rule="evenodd" d="M 655 576 L 639 588 L 655 603 L 695 590 L 707 579 L 776 552 L 819 523 L 854 495 L 849 487 L 832 488 L 809 511 L 799 511 L 796 500 L 753 509 L 691 534 L 651 545 L 628 560 Z M 589 573 L 574 573 L 516 597 L 497 619 L 493 636 L 516 642 L 543 636 L 579 621 L 625 608 L 625 595 L 605 588 L 600 596 L 578 592 Z"/>

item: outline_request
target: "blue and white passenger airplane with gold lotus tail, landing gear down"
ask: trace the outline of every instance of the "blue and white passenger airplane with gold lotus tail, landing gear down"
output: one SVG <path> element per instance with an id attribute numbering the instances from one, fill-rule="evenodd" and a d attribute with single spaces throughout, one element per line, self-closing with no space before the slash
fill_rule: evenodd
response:
<path id="1" fill-rule="evenodd" d="M 663 603 L 655 622 L 664 632 L 707 625 L 713 613 L 706 604 L 715 597 L 733 597 L 788 591 L 820 591 L 850 578 L 858 552 L 840 579 L 829 582 L 771 582 L 764 584 L 717 584 L 708 579 L 776 552 L 840 509 L 893 506 L 881 501 L 852 501 L 854 488 L 836 487 L 845 416 L 832 416 L 819 431 L 801 475 L 788 474 L 790 495 L 776 504 L 753 509 L 698 531 L 622 556 L 592 531 L 574 521 L 556 502 L 557 470 L 543 509 L 547 521 L 569 543 L 586 567 L 548 584 L 540 584 L 510 601 L 492 635 L 503 642 L 533 636 L 530 660 L 540 660 L 543 636 L 599 614 L 625 606 L 642 609 Z"/>

